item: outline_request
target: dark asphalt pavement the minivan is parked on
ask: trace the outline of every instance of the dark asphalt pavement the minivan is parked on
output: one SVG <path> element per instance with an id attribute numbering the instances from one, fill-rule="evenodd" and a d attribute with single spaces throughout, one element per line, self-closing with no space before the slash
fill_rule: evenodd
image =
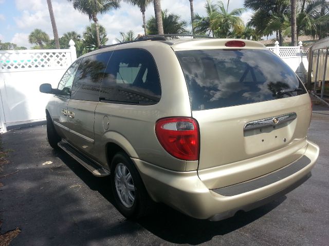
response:
<path id="1" fill-rule="evenodd" d="M 320 146 L 312 177 L 263 207 L 211 222 L 158 206 L 152 217 L 130 221 L 113 205 L 109 179 L 52 150 L 45 126 L 12 130 L 2 135 L 4 150 L 13 151 L 0 174 L 11 174 L 0 179 L 1 232 L 21 228 L 11 246 L 328 245 L 328 108 L 314 106 L 308 138 Z"/>

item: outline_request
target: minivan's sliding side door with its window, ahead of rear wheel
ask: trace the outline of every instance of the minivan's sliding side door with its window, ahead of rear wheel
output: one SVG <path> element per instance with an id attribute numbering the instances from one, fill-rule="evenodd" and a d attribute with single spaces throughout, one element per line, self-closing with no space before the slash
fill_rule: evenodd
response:
<path id="1" fill-rule="evenodd" d="M 111 55 L 112 52 L 103 52 L 82 59 L 67 106 L 68 141 L 89 155 L 95 146 L 94 119 L 100 85 Z"/>

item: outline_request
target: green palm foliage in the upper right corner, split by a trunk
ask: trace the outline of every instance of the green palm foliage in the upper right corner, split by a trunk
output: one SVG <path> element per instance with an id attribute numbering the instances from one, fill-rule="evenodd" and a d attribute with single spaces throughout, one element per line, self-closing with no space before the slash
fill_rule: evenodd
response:
<path id="1" fill-rule="evenodd" d="M 259 35 L 277 33 L 280 45 L 284 36 L 291 36 L 291 6 L 289 0 L 245 0 L 244 6 L 254 11 L 249 25 Z M 329 2 L 299 0 L 296 9 L 297 38 L 300 34 L 322 38 L 329 31 Z"/>

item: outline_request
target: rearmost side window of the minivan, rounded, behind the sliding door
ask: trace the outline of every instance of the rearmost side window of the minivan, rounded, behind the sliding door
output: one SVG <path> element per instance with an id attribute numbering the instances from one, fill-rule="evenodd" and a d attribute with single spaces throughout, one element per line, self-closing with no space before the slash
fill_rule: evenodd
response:
<path id="1" fill-rule="evenodd" d="M 152 105 L 161 97 L 158 70 L 151 54 L 141 49 L 114 51 L 105 70 L 100 100 Z"/>

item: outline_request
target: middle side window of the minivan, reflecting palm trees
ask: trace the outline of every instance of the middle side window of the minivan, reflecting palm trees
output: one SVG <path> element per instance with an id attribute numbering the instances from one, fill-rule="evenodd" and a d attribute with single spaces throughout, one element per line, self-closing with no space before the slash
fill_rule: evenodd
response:
<path id="1" fill-rule="evenodd" d="M 112 53 L 104 52 L 82 59 L 73 82 L 72 99 L 99 101 L 101 82 Z"/>

